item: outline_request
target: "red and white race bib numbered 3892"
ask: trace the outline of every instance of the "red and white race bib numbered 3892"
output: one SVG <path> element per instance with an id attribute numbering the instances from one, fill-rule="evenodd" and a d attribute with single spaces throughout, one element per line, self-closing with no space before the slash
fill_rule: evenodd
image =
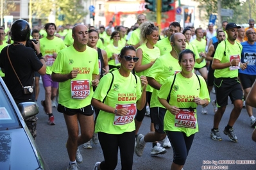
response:
<path id="1" fill-rule="evenodd" d="M 71 98 L 84 99 L 90 95 L 90 81 L 71 81 Z"/>

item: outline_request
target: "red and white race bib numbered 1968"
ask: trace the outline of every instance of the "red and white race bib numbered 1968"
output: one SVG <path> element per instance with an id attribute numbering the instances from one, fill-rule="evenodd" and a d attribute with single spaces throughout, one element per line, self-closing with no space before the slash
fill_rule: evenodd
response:
<path id="1" fill-rule="evenodd" d="M 195 112 L 189 109 L 180 109 L 175 116 L 175 127 L 196 128 Z"/>

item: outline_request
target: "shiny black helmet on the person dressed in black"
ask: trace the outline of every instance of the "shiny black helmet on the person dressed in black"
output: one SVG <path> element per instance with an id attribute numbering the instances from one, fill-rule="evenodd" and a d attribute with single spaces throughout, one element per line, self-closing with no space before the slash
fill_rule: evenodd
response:
<path id="1" fill-rule="evenodd" d="M 30 39 L 30 24 L 26 20 L 15 20 L 11 27 L 13 41 L 24 42 Z"/>

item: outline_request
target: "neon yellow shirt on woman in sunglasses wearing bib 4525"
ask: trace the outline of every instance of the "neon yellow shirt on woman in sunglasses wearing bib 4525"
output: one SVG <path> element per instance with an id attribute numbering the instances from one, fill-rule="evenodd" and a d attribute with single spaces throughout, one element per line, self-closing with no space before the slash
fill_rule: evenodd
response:
<path id="1" fill-rule="evenodd" d="M 115 107 L 116 104 L 136 104 L 137 100 L 141 98 L 141 81 L 137 77 L 137 84 L 135 77 L 132 73 L 128 77 L 123 77 L 119 70 L 114 70 L 114 81 L 110 88 L 110 83 L 113 79 L 111 73 L 101 78 L 99 85 L 94 92 L 92 98 L 101 102 L 105 99 L 105 104 L 110 107 Z M 107 94 L 108 89 L 110 91 Z M 107 134 L 123 134 L 124 132 L 132 132 L 135 130 L 134 120 L 124 125 L 114 125 L 115 114 L 105 111 L 99 111 L 97 117 L 95 132 L 104 132 Z"/>

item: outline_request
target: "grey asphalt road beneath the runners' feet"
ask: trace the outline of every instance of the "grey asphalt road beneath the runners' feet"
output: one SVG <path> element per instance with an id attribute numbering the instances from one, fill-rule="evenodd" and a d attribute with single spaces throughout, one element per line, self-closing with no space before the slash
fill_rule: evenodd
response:
<path id="1" fill-rule="evenodd" d="M 210 94 L 214 99 L 214 94 Z M 44 99 L 44 88 L 40 84 L 40 96 L 38 101 Z M 67 128 L 65 126 L 64 116 L 58 112 L 56 108 L 53 108 L 53 114 L 55 116 L 54 126 L 47 125 L 47 115 L 44 114 L 42 106 L 40 106 L 40 112 L 38 113 L 37 123 L 37 145 L 49 166 L 49 169 L 67 169 L 69 164 L 69 157 L 65 148 L 67 141 Z M 213 141 L 210 138 L 210 129 L 213 125 L 214 112 L 212 105 L 208 106 L 208 114 L 201 114 L 201 106 L 198 107 L 198 125 L 199 132 L 194 137 L 187 162 L 183 169 L 256 169 L 256 143 L 252 141 L 253 128 L 250 127 L 250 118 L 243 109 L 239 119 L 234 125 L 235 134 L 237 135 L 238 142 L 232 143 L 228 136 L 223 134 L 223 130 L 228 122 L 230 112 L 233 108 L 231 102 L 226 107 L 226 112 L 223 115 L 219 130 L 223 141 Z M 255 113 L 255 109 L 253 109 Z M 254 114 L 254 116 L 256 116 Z M 142 127 L 139 133 L 146 134 L 149 132 L 150 118 L 145 117 L 142 123 Z M 162 143 L 162 142 L 161 142 Z M 93 169 L 96 162 L 103 160 L 103 152 L 100 144 L 92 144 L 92 149 L 84 149 L 79 146 L 81 155 L 83 156 L 83 162 L 78 164 L 80 169 Z M 167 149 L 167 153 L 152 157 L 150 155 L 151 143 L 146 144 L 146 148 L 142 157 L 137 157 L 134 154 L 133 157 L 133 169 L 149 170 L 149 169 L 170 169 L 171 162 L 173 160 L 172 148 Z M 247 162 L 239 160 L 251 160 Z M 242 164 L 241 164 L 242 163 Z M 250 163 L 250 164 L 248 164 Z M 212 166 L 212 167 L 205 167 Z M 121 169 L 120 158 L 116 169 Z"/>

